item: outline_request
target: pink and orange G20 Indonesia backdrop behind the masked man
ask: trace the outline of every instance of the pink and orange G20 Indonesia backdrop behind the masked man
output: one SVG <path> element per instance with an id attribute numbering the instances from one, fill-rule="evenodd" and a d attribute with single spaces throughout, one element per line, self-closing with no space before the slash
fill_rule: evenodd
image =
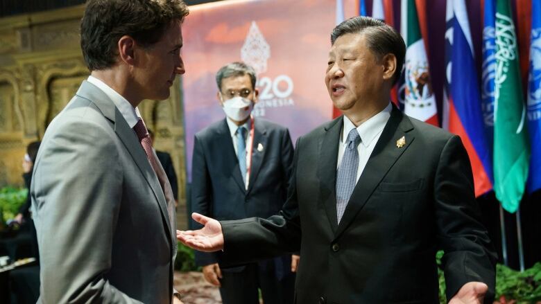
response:
<path id="1" fill-rule="evenodd" d="M 355 1 L 345 1 L 355 15 Z M 190 7 L 182 26 L 186 74 L 182 76 L 187 177 L 191 181 L 194 134 L 225 118 L 216 99 L 221 66 L 243 61 L 257 72 L 255 116 L 298 136 L 332 118 L 325 89 L 336 3 L 321 0 L 219 1 Z"/>

